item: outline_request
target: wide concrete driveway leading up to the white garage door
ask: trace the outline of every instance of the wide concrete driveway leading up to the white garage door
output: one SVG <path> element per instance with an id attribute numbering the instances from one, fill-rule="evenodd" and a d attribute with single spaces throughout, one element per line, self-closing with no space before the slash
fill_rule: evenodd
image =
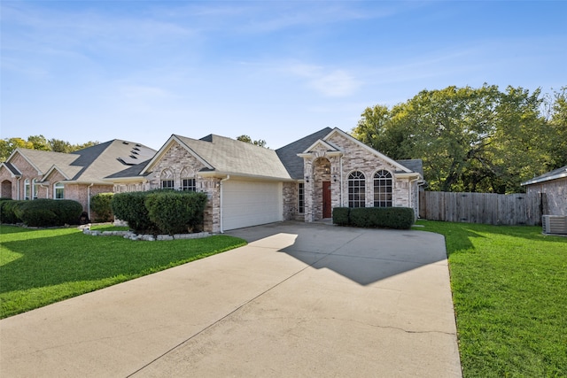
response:
<path id="1" fill-rule="evenodd" d="M 250 243 L 0 320 L 0 376 L 462 376 L 442 235 L 229 234 Z"/>

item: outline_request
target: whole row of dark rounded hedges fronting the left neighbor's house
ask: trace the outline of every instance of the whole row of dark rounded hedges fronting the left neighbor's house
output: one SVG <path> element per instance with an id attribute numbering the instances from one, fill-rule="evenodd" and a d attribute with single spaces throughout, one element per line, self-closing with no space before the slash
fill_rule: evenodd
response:
<path id="1" fill-rule="evenodd" d="M 39 198 L 33 201 L 0 201 L 2 223 L 24 223 L 29 227 L 79 224 L 82 205 L 70 199 Z"/>

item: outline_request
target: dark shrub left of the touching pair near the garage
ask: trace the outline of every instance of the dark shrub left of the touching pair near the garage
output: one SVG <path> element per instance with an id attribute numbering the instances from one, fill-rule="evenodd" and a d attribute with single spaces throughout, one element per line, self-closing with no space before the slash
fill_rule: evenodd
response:
<path id="1" fill-rule="evenodd" d="M 156 190 L 157 191 L 157 190 Z M 150 220 L 144 201 L 152 191 L 133 191 L 116 193 L 110 203 L 114 216 L 128 222 L 128 226 L 137 233 L 155 231 L 156 225 Z"/>

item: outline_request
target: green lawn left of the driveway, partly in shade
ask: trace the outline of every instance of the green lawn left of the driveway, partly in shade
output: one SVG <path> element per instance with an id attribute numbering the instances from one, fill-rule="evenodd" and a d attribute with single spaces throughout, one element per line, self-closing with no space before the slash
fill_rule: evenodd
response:
<path id="1" fill-rule="evenodd" d="M 242 245 L 229 235 L 135 242 L 77 228 L 1 226 L 0 319 Z"/>

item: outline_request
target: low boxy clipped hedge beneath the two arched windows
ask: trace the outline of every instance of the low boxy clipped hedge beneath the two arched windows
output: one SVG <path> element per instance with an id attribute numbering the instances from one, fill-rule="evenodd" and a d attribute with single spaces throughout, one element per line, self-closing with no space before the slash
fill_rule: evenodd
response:
<path id="1" fill-rule="evenodd" d="M 414 221 L 414 209 L 409 207 L 335 207 L 333 209 L 333 223 L 339 226 L 408 229 Z"/>

